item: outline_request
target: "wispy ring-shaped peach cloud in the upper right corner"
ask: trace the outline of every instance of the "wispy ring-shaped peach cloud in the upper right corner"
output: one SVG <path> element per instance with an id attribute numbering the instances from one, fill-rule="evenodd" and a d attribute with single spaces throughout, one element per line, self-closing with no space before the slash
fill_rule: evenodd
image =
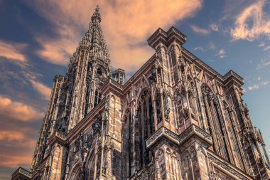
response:
<path id="1" fill-rule="evenodd" d="M 259 36 L 270 37 L 270 17 L 263 11 L 264 4 L 264 0 L 256 1 L 237 16 L 235 27 L 230 29 L 233 40 L 254 41 Z"/>

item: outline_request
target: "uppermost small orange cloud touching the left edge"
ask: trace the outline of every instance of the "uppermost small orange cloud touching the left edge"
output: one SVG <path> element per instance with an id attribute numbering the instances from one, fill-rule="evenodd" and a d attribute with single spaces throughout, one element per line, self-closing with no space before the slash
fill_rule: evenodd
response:
<path id="1" fill-rule="evenodd" d="M 26 56 L 23 54 L 23 50 L 26 46 L 26 43 L 11 43 L 0 40 L 0 56 L 24 63 L 26 62 Z"/>

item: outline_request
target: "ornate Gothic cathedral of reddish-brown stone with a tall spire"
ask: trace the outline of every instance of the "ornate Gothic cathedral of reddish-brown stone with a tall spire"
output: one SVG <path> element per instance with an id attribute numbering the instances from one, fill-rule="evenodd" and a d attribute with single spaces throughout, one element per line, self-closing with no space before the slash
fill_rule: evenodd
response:
<path id="1" fill-rule="evenodd" d="M 112 70 L 99 8 L 56 75 L 30 171 L 12 180 L 270 179 L 269 157 L 244 105 L 244 80 L 220 75 L 183 47 L 175 27 L 125 81 Z"/>

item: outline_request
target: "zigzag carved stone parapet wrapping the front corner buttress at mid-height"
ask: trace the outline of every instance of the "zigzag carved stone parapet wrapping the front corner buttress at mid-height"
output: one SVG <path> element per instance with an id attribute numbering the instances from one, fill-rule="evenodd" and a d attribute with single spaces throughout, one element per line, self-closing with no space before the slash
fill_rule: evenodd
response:
<path id="1" fill-rule="evenodd" d="M 163 137 L 170 140 L 171 142 L 174 142 L 175 144 L 180 145 L 193 136 L 199 137 L 200 139 L 202 139 L 209 145 L 212 144 L 212 137 L 210 134 L 200 129 L 200 127 L 196 125 L 190 125 L 188 129 L 185 129 L 185 131 L 179 135 L 175 134 L 174 132 L 167 129 L 166 127 L 161 127 L 156 132 L 154 132 L 151 135 L 151 137 L 149 137 L 146 140 L 146 147 L 147 148 L 151 147 L 153 144 L 156 144 L 156 142 L 158 142 L 158 140 Z"/>

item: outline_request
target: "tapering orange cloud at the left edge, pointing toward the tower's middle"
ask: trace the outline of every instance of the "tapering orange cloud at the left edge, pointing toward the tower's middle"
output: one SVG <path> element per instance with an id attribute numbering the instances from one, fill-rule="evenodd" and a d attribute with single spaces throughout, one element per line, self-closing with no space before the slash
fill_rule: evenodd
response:
<path id="1" fill-rule="evenodd" d="M 34 107 L 16 102 L 0 95 L 0 116 L 2 119 L 10 118 L 18 121 L 31 121 L 41 119 L 44 115 Z"/>

